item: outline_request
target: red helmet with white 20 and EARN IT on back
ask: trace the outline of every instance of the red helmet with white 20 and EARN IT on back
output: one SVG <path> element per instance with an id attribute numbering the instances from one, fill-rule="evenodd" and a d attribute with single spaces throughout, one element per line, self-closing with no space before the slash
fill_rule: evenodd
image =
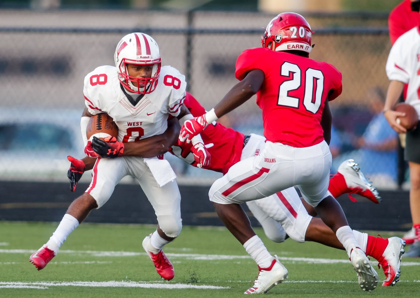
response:
<path id="1" fill-rule="evenodd" d="M 268 23 L 261 37 L 263 48 L 273 51 L 312 50 L 312 31 L 309 23 L 298 13 L 280 13 Z"/>

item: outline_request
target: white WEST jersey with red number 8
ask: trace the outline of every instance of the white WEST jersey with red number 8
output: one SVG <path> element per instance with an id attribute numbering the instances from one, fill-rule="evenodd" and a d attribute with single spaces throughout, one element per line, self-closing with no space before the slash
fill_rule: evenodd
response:
<path id="1" fill-rule="evenodd" d="M 83 93 L 89 112 L 108 113 L 118 126 L 118 141 L 131 142 L 163 133 L 168 115 L 179 115 L 185 88 L 185 76 L 173 67 L 163 66 L 156 89 L 144 94 L 134 106 L 121 90 L 117 68 L 105 65 L 87 74 Z"/>

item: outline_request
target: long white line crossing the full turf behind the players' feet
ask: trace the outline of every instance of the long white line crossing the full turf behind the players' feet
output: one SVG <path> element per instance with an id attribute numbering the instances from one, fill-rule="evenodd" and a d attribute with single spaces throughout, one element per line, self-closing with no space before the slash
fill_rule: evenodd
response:
<path id="1" fill-rule="evenodd" d="M 31 254 L 36 250 L 23 250 L 23 249 L 0 249 L 0 253 L 24 253 Z M 131 257 L 144 255 L 146 253 L 129 252 L 129 251 L 97 251 L 97 250 L 60 250 L 60 254 L 87 254 L 95 257 Z M 185 258 L 189 260 L 203 260 L 203 261 L 215 261 L 215 260 L 235 260 L 235 259 L 250 259 L 249 255 L 206 255 L 197 253 L 165 253 L 171 259 Z M 314 263 L 314 264 L 334 264 L 334 263 L 349 263 L 348 259 L 327 259 L 327 258 L 291 258 L 291 257 L 278 257 L 280 261 L 287 262 L 302 262 L 302 263 Z M 372 261 L 373 265 L 378 262 Z M 1 263 L 0 263 L 1 264 Z M 419 266 L 420 262 L 401 262 L 402 266 Z"/>

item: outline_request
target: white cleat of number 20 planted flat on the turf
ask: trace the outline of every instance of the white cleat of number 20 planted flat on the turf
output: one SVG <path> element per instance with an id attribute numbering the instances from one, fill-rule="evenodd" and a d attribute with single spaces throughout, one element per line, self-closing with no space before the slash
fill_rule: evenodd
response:
<path id="1" fill-rule="evenodd" d="M 272 287 L 278 285 L 288 277 L 289 272 L 286 267 L 278 261 L 277 255 L 274 255 L 274 260 L 268 268 L 261 268 L 258 266 L 260 272 L 254 285 L 245 291 L 244 294 L 262 294 L 267 293 Z"/>

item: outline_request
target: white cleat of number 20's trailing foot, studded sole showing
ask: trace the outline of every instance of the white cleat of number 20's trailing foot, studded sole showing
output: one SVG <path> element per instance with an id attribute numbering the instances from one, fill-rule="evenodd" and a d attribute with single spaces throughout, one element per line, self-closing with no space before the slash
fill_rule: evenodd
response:
<path id="1" fill-rule="evenodd" d="M 353 247 L 350 252 L 350 261 L 352 262 L 354 271 L 360 287 L 364 291 L 375 290 L 378 285 L 378 273 L 373 269 L 366 254 L 359 247 Z"/>

